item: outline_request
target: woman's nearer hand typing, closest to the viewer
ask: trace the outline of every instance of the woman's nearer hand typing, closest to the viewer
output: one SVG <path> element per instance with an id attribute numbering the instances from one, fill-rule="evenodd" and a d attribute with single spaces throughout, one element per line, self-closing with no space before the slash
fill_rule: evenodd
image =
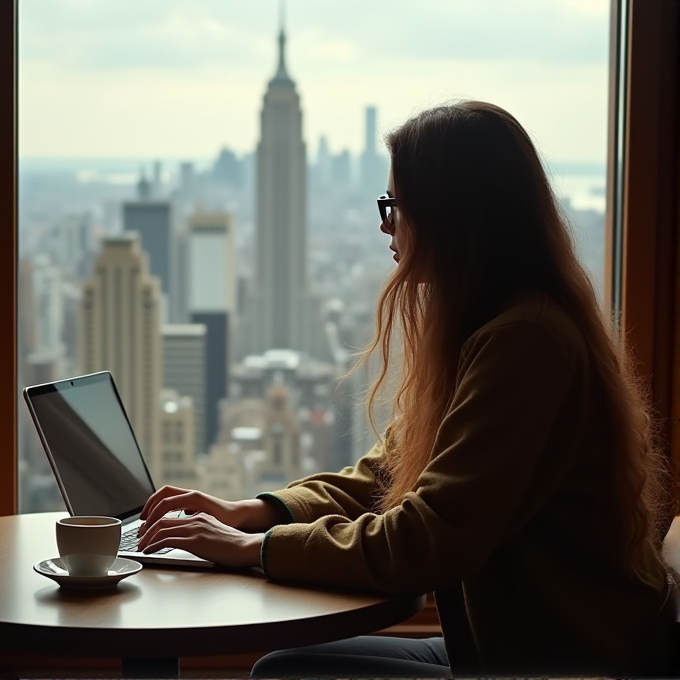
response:
<path id="1" fill-rule="evenodd" d="M 181 548 L 227 567 L 259 567 L 264 534 L 247 534 L 198 512 L 182 519 L 161 517 L 151 523 L 139 541 L 139 550 Z"/>

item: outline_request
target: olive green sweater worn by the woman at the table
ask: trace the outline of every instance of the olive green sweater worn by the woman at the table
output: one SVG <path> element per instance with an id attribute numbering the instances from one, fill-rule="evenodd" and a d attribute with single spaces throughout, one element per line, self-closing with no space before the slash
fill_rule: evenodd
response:
<path id="1" fill-rule="evenodd" d="M 600 493 L 603 408 L 579 329 L 543 294 L 526 295 L 463 346 L 431 461 L 401 505 L 371 511 L 382 445 L 354 467 L 265 494 L 290 523 L 267 532 L 263 569 L 434 591 L 454 672 L 470 669 L 466 639 L 484 673 L 663 669 L 666 572 L 651 548 L 652 584 L 616 557 Z"/>

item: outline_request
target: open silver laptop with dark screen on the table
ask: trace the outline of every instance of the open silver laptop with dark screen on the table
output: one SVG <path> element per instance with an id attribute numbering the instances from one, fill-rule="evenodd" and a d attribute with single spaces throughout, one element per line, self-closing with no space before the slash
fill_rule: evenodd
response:
<path id="1" fill-rule="evenodd" d="M 136 551 L 139 517 L 156 489 L 109 371 L 33 385 L 23 393 L 71 515 L 120 519 L 120 557 L 156 566 L 215 566 L 178 548 Z"/>

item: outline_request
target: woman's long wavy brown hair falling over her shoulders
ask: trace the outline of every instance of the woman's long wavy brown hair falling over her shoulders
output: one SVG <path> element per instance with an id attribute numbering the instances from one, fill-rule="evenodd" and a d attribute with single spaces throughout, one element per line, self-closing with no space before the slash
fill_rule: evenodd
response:
<path id="1" fill-rule="evenodd" d="M 658 547 L 657 520 L 669 496 L 652 420 L 528 134 L 503 109 L 464 101 L 423 111 L 391 132 L 387 145 L 402 217 L 400 262 L 363 354 L 364 361 L 381 355 L 371 414 L 391 374 L 395 339 L 401 372 L 377 509 L 398 505 L 428 464 L 465 340 L 517 292 L 541 290 L 574 319 L 592 355 L 612 458 L 602 492 L 630 568 L 644 576 L 645 543 Z"/>

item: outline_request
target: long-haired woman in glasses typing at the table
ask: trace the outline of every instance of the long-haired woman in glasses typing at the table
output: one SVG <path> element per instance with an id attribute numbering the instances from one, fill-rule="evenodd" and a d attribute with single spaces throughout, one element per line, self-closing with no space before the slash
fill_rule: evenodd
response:
<path id="1" fill-rule="evenodd" d="M 668 673 L 649 418 L 536 150 L 481 102 L 424 111 L 387 143 L 378 204 L 398 267 L 367 353 L 383 361 L 372 405 L 399 334 L 385 437 L 353 468 L 254 501 L 163 488 L 141 545 L 435 593 L 443 641 L 277 652 L 260 676 Z M 199 514 L 161 519 L 178 508 Z"/>

